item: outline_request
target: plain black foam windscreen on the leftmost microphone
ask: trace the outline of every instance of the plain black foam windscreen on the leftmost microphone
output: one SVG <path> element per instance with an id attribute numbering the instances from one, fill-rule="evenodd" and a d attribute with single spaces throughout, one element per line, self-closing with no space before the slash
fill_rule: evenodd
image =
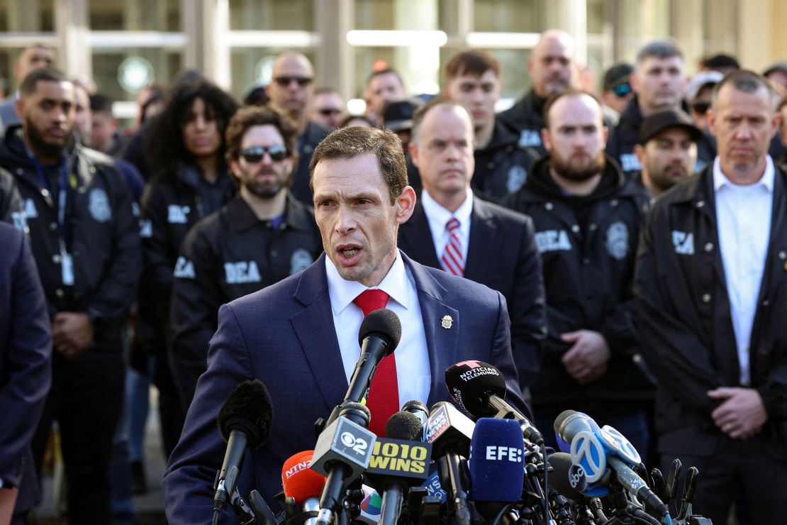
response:
<path id="1" fill-rule="evenodd" d="M 221 406 L 216 423 L 224 441 L 229 440 L 231 431 L 246 434 L 248 446 L 256 449 L 271 433 L 273 403 L 268 389 L 259 379 L 240 383 Z"/>

